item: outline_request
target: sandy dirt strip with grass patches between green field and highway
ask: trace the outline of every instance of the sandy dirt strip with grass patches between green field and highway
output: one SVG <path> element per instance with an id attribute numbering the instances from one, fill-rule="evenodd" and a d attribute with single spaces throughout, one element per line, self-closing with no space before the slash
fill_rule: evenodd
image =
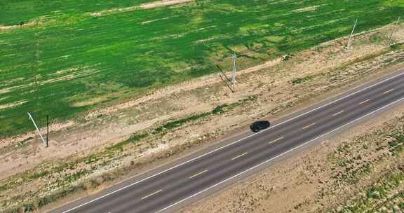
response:
<path id="1" fill-rule="evenodd" d="M 0 143 L 0 211 L 34 209 L 74 191 L 94 193 L 210 144 L 258 118 L 274 120 L 404 66 L 391 27 L 325 43 L 288 60 L 238 71 L 237 90 L 214 74 L 55 125 L 50 147 L 31 132 Z M 404 41 L 404 29 L 395 34 Z M 57 195 L 54 195 L 57 194 Z M 85 194 L 81 194 L 85 195 Z M 45 200 L 43 200 L 45 199 Z"/>

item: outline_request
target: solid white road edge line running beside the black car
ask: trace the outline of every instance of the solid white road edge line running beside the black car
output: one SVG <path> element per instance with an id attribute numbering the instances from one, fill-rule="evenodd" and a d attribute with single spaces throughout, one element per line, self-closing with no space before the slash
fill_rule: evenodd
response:
<path id="1" fill-rule="evenodd" d="M 358 90 L 358 91 L 356 91 L 356 92 L 353 92 L 353 93 L 351 93 L 351 94 L 349 94 L 349 95 L 346 95 L 346 96 L 344 96 L 344 97 L 340 97 L 339 99 L 335 99 L 335 100 L 333 100 L 332 102 L 328 102 L 327 104 L 324 104 L 324 105 L 322 105 L 321 107 L 317 107 L 316 109 L 311 109 L 310 111 L 307 111 L 307 112 L 305 112 L 305 113 L 303 113 L 303 114 L 299 114 L 299 115 L 297 115 L 297 116 L 295 116 L 295 117 L 293 117 L 293 118 L 289 118 L 288 120 L 283 121 L 283 122 L 281 122 L 281 123 L 278 123 L 278 124 L 276 124 L 276 125 L 273 125 L 273 126 L 271 126 L 270 128 L 267 128 L 267 129 L 265 129 L 265 130 L 262 130 L 261 132 L 256 132 L 256 133 L 254 133 L 253 135 L 248 135 L 247 137 L 243 137 L 242 139 L 238 139 L 238 140 L 236 140 L 235 142 L 231 142 L 230 144 L 226 144 L 226 145 L 224 145 L 224 146 L 222 146 L 222 147 L 220 147 L 220 148 L 217 148 L 217 149 L 215 149 L 215 150 L 213 150 L 213 151 L 209 151 L 208 153 L 204 153 L 204 154 L 201 155 L 201 156 L 198 156 L 198 157 L 196 157 L 196 158 L 192 158 L 192 159 L 190 159 L 190 160 L 187 160 L 187 161 L 185 161 L 184 163 L 180 163 L 180 164 L 178 164 L 178 165 L 175 165 L 175 166 L 173 166 L 173 167 L 170 167 L 170 168 L 168 168 L 167 170 L 163 170 L 162 172 L 153 174 L 152 176 L 149 176 L 149 177 L 147 177 L 147 178 L 145 178 L 145 179 L 142 179 L 142 180 L 140 180 L 140 181 L 136 181 L 135 183 L 129 184 L 128 186 L 124 186 L 124 187 L 122 187 L 122 188 L 116 189 L 115 191 L 112 191 L 112 192 L 110 192 L 110 193 L 107 193 L 107 194 L 105 194 L 105 195 L 102 195 L 101 197 L 95 198 L 95 199 L 90 200 L 90 201 L 88 201 L 88 202 L 85 202 L 85 203 L 83 203 L 83 204 L 81 204 L 81 205 L 78 205 L 78 206 L 76 206 L 76 207 L 73 207 L 72 209 L 68 209 L 68 210 L 66 210 L 65 212 L 62 212 L 62 213 L 71 212 L 72 210 L 78 209 L 79 207 L 82 207 L 82 206 L 84 206 L 84 205 L 87 205 L 87 204 L 90 203 L 90 202 L 94 202 L 94 201 L 100 200 L 100 199 L 102 199 L 102 198 L 105 198 L 105 197 L 107 197 L 108 195 L 112 195 L 113 193 L 116 193 L 116 192 L 118 192 L 118 191 L 121 191 L 121 190 L 123 190 L 123 189 L 125 189 L 125 188 L 128 188 L 128 187 L 130 187 L 130 186 L 139 184 L 139 183 L 141 183 L 142 181 L 145 181 L 145 180 L 147 180 L 147 179 L 151 179 L 151 178 L 153 178 L 153 177 L 156 177 L 156 176 L 158 176 L 159 174 L 163 174 L 164 172 L 168 172 L 168 171 L 170 171 L 170 170 L 173 170 L 173 169 L 175 169 L 176 167 L 180 167 L 180 166 L 182 166 L 182 165 L 184 165 L 184 164 L 186 164 L 186 163 L 189 163 L 189 162 L 192 162 L 192 161 L 194 161 L 194 160 L 196 160 L 196 159 L 202 158 L 203 156 L 207 156 L 207 155 L 209 155 L 210 153 L 213 153 L 213 152 L 215 152 L 215 151 L 219 151 L 220 149 L 224 149 L 224 148 L 226 148 L 227 146 L 231 146 L 231 145 L 233 145 L 233 144 L 236 144 L 236 143 L 238 143 L 238 142 L 241 142 L 241 141 L 243 141 L 244 139 L 248 139 L 249 137 L 253 137 L 253 136 L 258 135 L 258 134 L 260 134 L 260 133 L 262 133 L 262 132 L 265 132 L 265 131 L 267 131 L 267 130 L 271 130 L 272 128 L 275 128 L 275 127 L 278 126 L 278 125 L 281 125 L 281 124 L 283 124 L 283 123 L 287 123 L 287 122 L 289 122 L 289 121 L 292 121 L 292 120 L 294 120 L 294 119 L 296 119 L 296 118 L 302 117 L 302 116 L 304 116 L 304 115 L 306 115 L 306 114 L 309 114 L 309 113 L 311 113 L 311 112 L 313 112 L 313 111 L 316 111 L 317 109 L 321 109 L 321 108 L 323 108 L 323 107 L 327 107 L 328 105 L 334 104 L 335 102 L 338 102 L 338 101 L 340 101 L 340 100 L 342 100 L 342 99 L 345 99 L 346 97 L 351 97 L 352 95 L 355 95 L 355 94 L 357 94 L 358 92 L 362 92 L 363 90 L 367 90 L 367 89 L 369 89 L 369 88 L 372 88 L 372 87 L 374 87 L 374 86 L 376 86 L 376 85 L 379 85 L 379 84 L 381 84 L 381 83 L 384 83 L 384 82 L 386 82 L 386 81 L 389 81 L 389 80 L 391 80 L 391 79 L 393 79 L 393 78 L 396 78 L 396 77 L 398 77 L 398 76 L 401 76 L 401 75 L 403 75 L 403 74 L 404 74 L 404 72 L 402 72 L 402 73 L 400 73 L 400 74 L 397 74 L 397 75 L 395 75 L 395 76 L 391 76 L 390 78 L 386 78 L 386 79 L 384 79 L 383 81 L 380 81 L 380 82 L 375 83 L 375 84 L 373 84 L 373 85 L 369 85 L 369 86 L 367 86 L 367 87 L 365 87 L 365 88 L 363 88 L 363 89 L 361 89 L 361 90 Z M 361 87 L 361 86 L 362 86 L 362 85 L 358 85 L 356 88 L 359 88 L 359 87 Z M 355 90 L 356 88 L 352 88 L 351 90 Z"/>

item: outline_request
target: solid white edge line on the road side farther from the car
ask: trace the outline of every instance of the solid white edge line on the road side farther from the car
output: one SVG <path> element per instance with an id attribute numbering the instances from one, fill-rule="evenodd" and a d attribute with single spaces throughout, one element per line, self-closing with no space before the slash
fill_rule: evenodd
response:
<path id="1" fill-rule="evenodd" d="M 247 170 L 244 170 L 243 172 L 240 172 L 240 173 L 238 173 L 238 174 L 235 174 L 234 176 L 229 177 L 228 179 L 225 179 L 225 180 L 223 180 L 223 181 L 220 181 L 219 183 L 217 183 L 217 184 L 215 184 L 215 185 L 209 186 L 208 188 L 205 188 L 205 189 L 203 189 L 202 191 L 199 191 L 199 192 L 197 192 L 197 193 L 194 193 L 193 195 L 191 195 L 191 196 L 189 196 L 189 197 L 187 197 L 187 198 L 184 198 L 184 199 L 182 199 L 182 200 L 180 200 L 180 201 L 178 201 L 178 202 L 175 202 L 174 204 L 169 205 L 168 207 L 165 207 L 165 208 L 163 208 L 163 209 L 160 209 L 160 210 L 157 211 L 157 212 L 163 212 L 164 210 L 169 209 L 170 207 L 173 207 L 173 206 L 175 206 L 175 205 L 178 205 L 180 202 L 184 202 L 185 200 L 189 200 L 190 198 L 193 198 L 193 197 L 196 196 L 196 195 L 199 195 L 199 194 L 201 194 L 201 193 L 203 193 L 203 192 L 205 192 L 205 191 L 208 191 L 210 188 L 214 188 L 215 186 L 218 186 L 218 185 L 220 185 L 220 184 L 223 184 L 224 182 L 229 181 L 230 179 L 234 179 L 235 177 L 238 177 L 238 176 L 240 176 L 241 174 L 244 174 L 245 172 L 249 172 L 250 170 L 253 170 L 253 169 L 255 169 L 256 167 L 260 167 L 261 165 L 264 165 L 264 164 L 266 164 L 266 163 L 269 163 L 270 161 L 275 160 L 276 158 L 279 158 L 279 157 L 281 157 L 281 156 L 283 156 L 283 155 L 285 155 L 285 154 L 287 154 L 287 153 L 290 153 L 291 151 L 294 151 L 295 149 L 299 149 L 299 148 L 302 147 L 302 146 L 305 146 L 305 145 L 307 145 L 307 144 L 309 144 L 309 143 L 311 143 L 311 142 L 314 142 L 316 139 L 319 139 L 319 138 L 321 138 L 321 137 L 324 137 L 325 135 L 328 135 L 328 134 L 330 134 L 331 132 L 335 132 L 335 131 L 339 130 L 340 128 L 344 128 L 344 126 L 346 126 L 346 125 L 350 125 L 351 123 L 355 123 L 356 121 L 361 120 L 362 118 L 365 118 L 366 116 L 370 116 L 371 114 L 374 114 L 375 112 L 377 112 L 377 111 L 379 111 L 379 110 L 382 110 L 382 109 L 384 109 L 384 108 L 386 108 L 386 107 L 389 107 L 389 106 L 392 105 L 392 104 L 396 104 L 397 102 L 400 102 L 400 101 L 402 101 L 403 99 L 404 99 L 404 97 L 402 97 L 402 98 L 396 100 L 395 102 L 391 102 L 390 104 L 387 104 L 386 106 L 384 106 L 384 107 L 382 107 L 382 108 L 376 109 L 375 111 L 371 111 L 370 113 L 365 114 L 364 116 L 361 116 L 360 118 L 356 118 L 354 121 L 351 121 L 351 122 L 346 123 L 346 124 L 344 124 L 344 125 L 342 125 L 342 126 L 339 126 L 338 128 L 335 128 L 334 130 L 331 130 L 330 132 L 326 132 L 326 133 L 324 133 L 323 135 L 320 135 L 320 136 L 318 136 L 318 137 L 316 137 L 316 138 L 314 138 L 314 139 L 311 139 L 311 140 L 309 140 L 308 142 L 305 142 L 304 144 L 300 144 L 299 146 L 295 146 L 295 147 L 293 147 L 292 149 L 289 149 L 288 151 L 285 151 L 284 153 L 281 153 L 281 154 L 279 154 L 278 156 L 275 156 L 274 158 L 270 158 L 270 159 L 268 159 L 268 160 L 265 160 L 264 162 L 262 162 L 262 163 L 260 163 L 260 164 L 258 164 L 258 165 L 255 165 L 255 166 L 253 166 L 253 167 L 250 167 L 250 168 L 248 168 Z M 157 213 L 157 212 L 156 212 L 156 213 Z"/>

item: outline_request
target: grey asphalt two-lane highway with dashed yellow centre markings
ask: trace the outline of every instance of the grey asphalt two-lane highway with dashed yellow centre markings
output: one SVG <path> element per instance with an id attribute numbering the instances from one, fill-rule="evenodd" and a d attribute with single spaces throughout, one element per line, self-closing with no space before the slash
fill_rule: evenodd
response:
<path id="1" fill-rule="evenodd" d="M 396 74 L 355 92 L 347 92 L 271 128 L 225 144 L 200 156 L 178 160 L 166 170 L 52 212 L 170 212 L 196 195 L 234 180 L 241 174 L 306 146 L 404 99 L 404 74 Z"/>

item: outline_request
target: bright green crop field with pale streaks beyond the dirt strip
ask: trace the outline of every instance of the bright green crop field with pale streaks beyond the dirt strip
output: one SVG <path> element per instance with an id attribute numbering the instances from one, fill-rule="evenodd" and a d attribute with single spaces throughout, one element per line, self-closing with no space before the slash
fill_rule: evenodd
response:
<path id="1" fill-rule="evenodd" d="M 146 0 L 2 0 L 0 138 L 32 130 L 27 111 L 62 121 L 170 83 L 248 67 L 404 15 L 404 1 L 201 0 L 187 6 L 93 12 Z M 32 23 L 39 22 L 39 25 Z M 38 60 L 36 60 L 38 59 Z"/>

